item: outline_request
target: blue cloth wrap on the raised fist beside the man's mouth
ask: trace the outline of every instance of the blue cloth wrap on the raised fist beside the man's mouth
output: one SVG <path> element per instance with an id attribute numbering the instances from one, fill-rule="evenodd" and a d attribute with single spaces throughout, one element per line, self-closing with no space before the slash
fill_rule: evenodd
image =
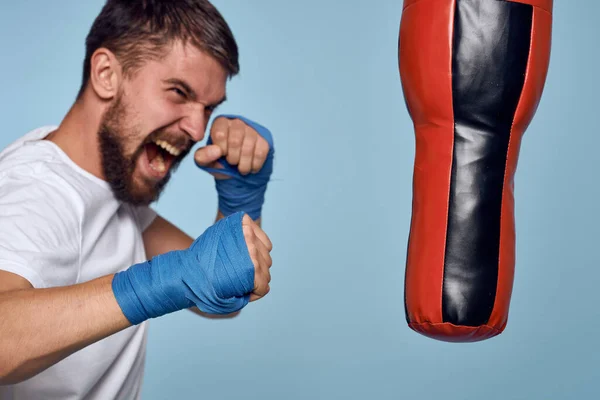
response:
<path id="1" fill-rule="evenodd" d="M 238 115 L 220 115 L 219 117 L 239 119 L 245 122 L 256 130 L 269 144 L 267 159 L 256 174 L 251 173 L 246 176 L 240 174 L 237 167 L 230 165 L 225 157 L 221 157 L 218 160 L 223 165 L 223 169 L 199 166 L 200 169 L 207 172 L 219 173 L 230 177 L 230 179 L 215 180 L 217 194 L 219 195 L 219 210 L 223 215 L 228 216 L 238 211 L 244 211 L 250 218 L 256 220 L 261 215 L 267 184 L 273 172 L 273 158 L 275 154 L 273 136 L 267 128 L 245 117 Z M 212 143 L 212 138 L 208 138 L 206 144 L 210 145 Z"/>

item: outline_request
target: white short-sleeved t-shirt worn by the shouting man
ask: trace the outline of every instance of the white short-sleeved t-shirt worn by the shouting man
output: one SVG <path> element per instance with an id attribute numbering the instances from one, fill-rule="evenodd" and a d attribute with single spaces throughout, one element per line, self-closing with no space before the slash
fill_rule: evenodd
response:
<path id="1" fill-rule="evenodd" d="M 115 199 L 107 182 L 78 167 L 36 129 L 0 153 L 0 269 L 35 288 L 67 286 L 146 260 L 143 230 L 156 214 Z M 68 329 L 68 328 L 67 328 Z M 146 323 L 88 346 L 0 399 L 135 399 Z"/>

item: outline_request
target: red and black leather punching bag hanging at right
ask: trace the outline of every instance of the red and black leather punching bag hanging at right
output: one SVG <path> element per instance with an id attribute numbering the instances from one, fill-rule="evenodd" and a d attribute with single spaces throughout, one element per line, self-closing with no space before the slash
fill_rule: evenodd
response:
<path id="1" fill-rule="evenodd" d="M 405 0 L 399 69 L 416 154 L 406 260 L 411 329 L 485 340 L 507 323 L 514 175 L 544 88 L 552 0 Z"/>

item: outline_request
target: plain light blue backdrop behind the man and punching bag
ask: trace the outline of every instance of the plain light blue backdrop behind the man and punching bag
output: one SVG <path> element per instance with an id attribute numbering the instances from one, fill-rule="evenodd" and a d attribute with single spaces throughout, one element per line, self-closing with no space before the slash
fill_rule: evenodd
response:
<path id="1" fill-rule="evenodd" d="M 102 1 L 0 4 L 4 147 L 67 112 Z M 221 111 L 275 135 L 272 291 L 233 320 L 152 321 L 144 399 L 600 398 L 600 3 L 555 2 L 516 176 L 509 323 L 476 344 L 427 339 L 404 318 L 414 136 L 397 68 L 402 2 L 215 4 L 242 65 Z M 216 201 L 190 158 L 156 208 L 196 236 Z"/>

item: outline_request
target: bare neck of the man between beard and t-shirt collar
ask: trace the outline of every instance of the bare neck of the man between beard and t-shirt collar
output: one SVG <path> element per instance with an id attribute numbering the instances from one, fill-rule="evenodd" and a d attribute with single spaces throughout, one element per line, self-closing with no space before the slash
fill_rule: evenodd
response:
<path id="1" fill-rule="evenodd" d="M 105 179 L 98 143 L 98 129 L 104 110 L 103 107 L 86 107 L 85 102 L 85 99 L 76 101 L 58 129 L 46 139 L 60 147 L 79 167 Z"/>

